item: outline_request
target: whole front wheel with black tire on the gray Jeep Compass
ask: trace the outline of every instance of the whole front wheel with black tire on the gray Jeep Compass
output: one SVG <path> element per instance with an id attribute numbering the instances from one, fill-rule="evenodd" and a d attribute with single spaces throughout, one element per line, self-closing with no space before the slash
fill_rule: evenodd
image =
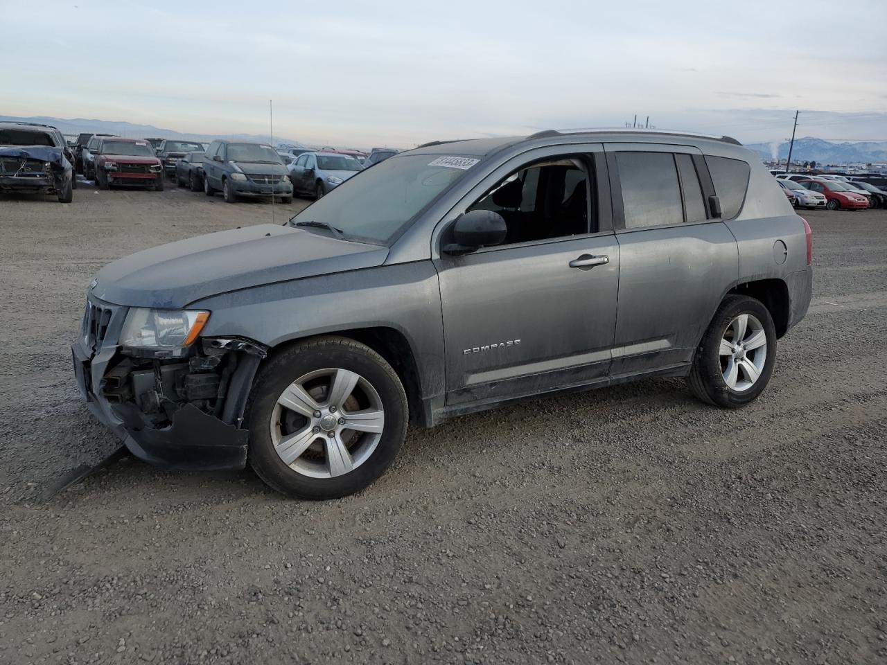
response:
<path id="1" fill-rule="evenodd" d="M 255 379 L 249 462 L 287 496 L 344 497 L 388 469 L 408 413 L 400 379 L 372 348 L 343 337 L 299 342 Z"/>

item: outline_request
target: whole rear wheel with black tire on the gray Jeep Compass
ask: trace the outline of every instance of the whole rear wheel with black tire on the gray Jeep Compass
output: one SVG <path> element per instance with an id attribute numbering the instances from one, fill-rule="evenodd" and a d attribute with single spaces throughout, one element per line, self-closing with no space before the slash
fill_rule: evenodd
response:
<path id="1" fill-rule="evenodd" d="M 761 301 L 730 295 L 696 349 L 687 383 L 705 403 L 737 409 L 764 392 L 776 361 L 776 328 Z"/>

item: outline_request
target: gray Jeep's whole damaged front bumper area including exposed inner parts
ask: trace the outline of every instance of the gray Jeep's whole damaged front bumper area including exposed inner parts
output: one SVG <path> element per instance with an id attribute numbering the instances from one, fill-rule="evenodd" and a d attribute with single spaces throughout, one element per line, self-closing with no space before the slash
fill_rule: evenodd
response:
<path id="1" fill-rule="evenodd" d="M 234 338 L 198 340 L 175 357 L 123 348 L 115 340 L 126 311 L 90 301 L 72 345 L 77 386 L 92 414 L 152 465 L 243 468 L 243 413 L 266 349 Z"/>

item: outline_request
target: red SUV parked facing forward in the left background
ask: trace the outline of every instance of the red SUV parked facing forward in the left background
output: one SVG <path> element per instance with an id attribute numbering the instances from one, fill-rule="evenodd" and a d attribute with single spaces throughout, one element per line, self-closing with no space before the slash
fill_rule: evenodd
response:
<path id="1" fill-rule="evenodd" d="M 95 160 L 96 186 L 136 185 L 163 190 L 163 165 L 152 145 L 139 138 L 103 138 Z"/>

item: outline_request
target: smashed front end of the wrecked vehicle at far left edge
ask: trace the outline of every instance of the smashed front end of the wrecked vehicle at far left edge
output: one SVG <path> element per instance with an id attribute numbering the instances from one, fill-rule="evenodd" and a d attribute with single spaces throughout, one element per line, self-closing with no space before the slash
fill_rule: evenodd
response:
<path id="1" fill-rule="evenodd" d="M 74 171 L 61 148 L 0 147 L 0 192 L 63 192 Z"/>

